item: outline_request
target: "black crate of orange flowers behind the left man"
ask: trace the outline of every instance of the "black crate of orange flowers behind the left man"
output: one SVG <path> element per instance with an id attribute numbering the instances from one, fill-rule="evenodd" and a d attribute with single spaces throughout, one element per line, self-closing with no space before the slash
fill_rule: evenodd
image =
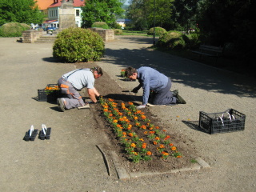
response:
<path id="1" fill-rule="evenodd" d="M 48 87 L 58 86 L 58 84 L 48 84 Z M 60 90 L 38 90 L 38 102 L 56 102 L 61 97 Z"/>

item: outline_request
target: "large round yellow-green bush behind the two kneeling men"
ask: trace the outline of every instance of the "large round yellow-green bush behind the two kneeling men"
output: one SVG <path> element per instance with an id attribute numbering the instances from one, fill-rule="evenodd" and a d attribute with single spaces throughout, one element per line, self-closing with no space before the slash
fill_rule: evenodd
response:
<path id="1" fill-rule="evenodd" d="M 99 34 L 82 28 L 62 30 L 54 42 L 53 55 L 64 62 L 98 61 L 104 54 Z"/>

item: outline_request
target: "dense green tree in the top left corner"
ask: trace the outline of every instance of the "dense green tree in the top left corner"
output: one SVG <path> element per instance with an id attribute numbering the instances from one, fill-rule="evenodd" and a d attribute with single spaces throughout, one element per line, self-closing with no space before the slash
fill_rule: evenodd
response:
<path id="1" fill-rule="evenodd" d="M 42 23 L 44 15 L 34 0 L 1 0 L 0 26 L 6 22 Z"/>

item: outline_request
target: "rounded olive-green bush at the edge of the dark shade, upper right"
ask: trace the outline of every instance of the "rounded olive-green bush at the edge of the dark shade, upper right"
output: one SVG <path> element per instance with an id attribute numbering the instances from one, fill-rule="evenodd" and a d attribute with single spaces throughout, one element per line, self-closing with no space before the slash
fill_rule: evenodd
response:
<path id="1" fill-rule="evenodd" d="M 163 34 L 156 46 L 164 49 L 184 49 L 189 43 L 189 38 L 178 31 L 169 31 Z"/>

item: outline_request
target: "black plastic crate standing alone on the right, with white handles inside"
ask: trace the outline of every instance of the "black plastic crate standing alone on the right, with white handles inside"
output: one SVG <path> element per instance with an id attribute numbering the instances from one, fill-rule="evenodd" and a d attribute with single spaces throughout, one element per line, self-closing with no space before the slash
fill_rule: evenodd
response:
<path id="1" fill-rule="evenodd" d="M 245 130 L 246 115 L 229 109 L 220 113 L 199 112 L 199 126 L 209 134 Z"/>

